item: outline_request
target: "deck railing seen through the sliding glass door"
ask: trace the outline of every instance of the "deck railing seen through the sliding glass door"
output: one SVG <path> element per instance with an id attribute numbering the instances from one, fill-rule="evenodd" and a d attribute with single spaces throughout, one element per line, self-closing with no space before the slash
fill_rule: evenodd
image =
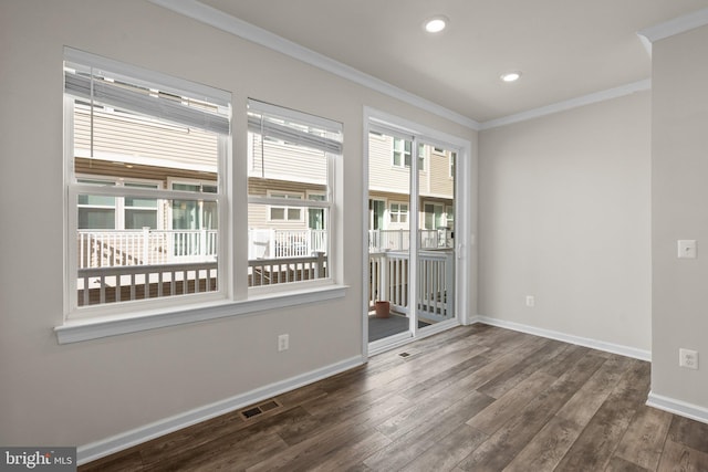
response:
<path id="1" fill-rule="evenodd" d="M 408 252 L 386 251 L 368 254 L 369 306 L 377 300 L 391 302 L 391 310 L 408 314 Z M 444 321 L 455 316 L 455 253 L 450 250 L 418 253 L 418 315 Z"/>

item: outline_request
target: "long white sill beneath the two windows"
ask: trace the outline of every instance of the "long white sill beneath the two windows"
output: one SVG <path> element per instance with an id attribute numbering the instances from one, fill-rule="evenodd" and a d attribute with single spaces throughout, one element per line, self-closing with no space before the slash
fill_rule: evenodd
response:
<path id="1" fill-rule="evenodd" d="M 137 333 L 187 323 L 229 316 L 248 315 L 266 310 L 283 308 L 287 306 L 304 305 L 323 300 L 341 298 L 345 294 L 346 285 L 324 285 L 306 291 L 289 291 L 270 293 L 238 302 L 219 302 L 195 305 L 187 310 L 170 310 L 165 313 L 145 313 L 134 316 L 111 316 L 102 318 L 67 321 L 56 326 L 54 332 L 59 344 L 79 343 L 101 337 Z"/>

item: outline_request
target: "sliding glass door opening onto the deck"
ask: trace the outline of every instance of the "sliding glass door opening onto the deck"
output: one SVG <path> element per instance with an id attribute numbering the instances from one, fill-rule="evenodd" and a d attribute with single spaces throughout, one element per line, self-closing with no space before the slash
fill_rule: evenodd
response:
<path id="1" fill-rule="evenodd" d="M 456 157 L 418 136 L 369 129 L 369 343 L 455 318 Z"/>

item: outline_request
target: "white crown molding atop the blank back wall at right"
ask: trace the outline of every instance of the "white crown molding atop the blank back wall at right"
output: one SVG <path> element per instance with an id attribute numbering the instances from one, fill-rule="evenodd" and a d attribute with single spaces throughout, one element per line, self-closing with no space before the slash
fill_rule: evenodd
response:
<path id="1" fill-rule="evenodd" d="M 490 119 L 481 124 L 480 130 L 498 128 L 500 126 L 511 125 L 513 123 L 525 122 L 527 119 L 540 118 L 541 116 L 552 115 L 559 112 L 565 112 L 580 106 L 591 105 L 593 103 L 604 102 L 607 99 L 618 98 L 631 95 L 636 92 L 644 92 L 652 88 L 652 80 L 633 82 L 631 84 L 621 85 L 618 87 L 608 88 L 602 92 L 595 92 L 582 95 L 575 98 L 558 102 L 551 105 L 541 106 L 539 108 L 529 109 L 527 112 L 517 113 L 514 115 L 504 116 L 497 119 Z"/>

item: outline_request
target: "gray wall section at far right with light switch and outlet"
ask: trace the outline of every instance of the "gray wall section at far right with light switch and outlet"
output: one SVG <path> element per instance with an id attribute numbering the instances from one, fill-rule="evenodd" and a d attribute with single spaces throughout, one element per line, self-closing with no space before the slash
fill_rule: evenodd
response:
<path id="1" fill-rule="evenodd" d="M 708 416 L 708 27 L 654 43 L 652 394 Z M 697 259 L 677 259 L 679 239 Z M 680 347 L 700 370 L 678 367 Z"/>

